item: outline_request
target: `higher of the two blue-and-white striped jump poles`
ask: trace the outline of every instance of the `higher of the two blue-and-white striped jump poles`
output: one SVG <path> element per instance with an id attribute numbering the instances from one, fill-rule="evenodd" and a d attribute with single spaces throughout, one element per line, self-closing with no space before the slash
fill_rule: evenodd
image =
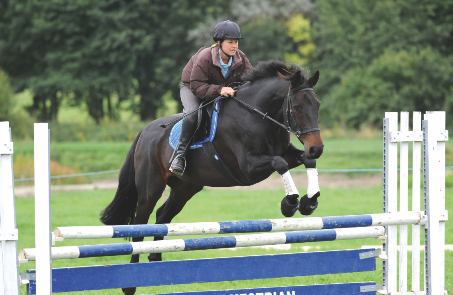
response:
<path id="1" fill-rule="evenodd" d="M 417 224 L 423 212 L 398 212 L 352 216 L 291 219 L 244 220 L 181 224 L 56 227 L 55 237 L 63 239 L 102 239 L 154 236 L 213 235 L 282 232 Z"/>

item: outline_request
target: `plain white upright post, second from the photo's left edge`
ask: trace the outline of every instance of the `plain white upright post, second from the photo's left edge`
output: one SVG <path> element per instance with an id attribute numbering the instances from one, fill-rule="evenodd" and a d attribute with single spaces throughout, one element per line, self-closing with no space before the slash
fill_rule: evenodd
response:
<path id="1" fill-rule="evenodd" d="M 50 130 L 34 124 L 36 294 L 52 294 L 52 236 L 50 228 Z"/>

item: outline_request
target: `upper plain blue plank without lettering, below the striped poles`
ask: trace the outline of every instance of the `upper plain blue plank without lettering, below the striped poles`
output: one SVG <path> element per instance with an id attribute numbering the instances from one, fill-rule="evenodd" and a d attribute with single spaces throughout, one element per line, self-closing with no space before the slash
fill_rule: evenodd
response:
<path id="1" fill-rule="evenodd" d="M 54 268 L 52 290 L 60 293 L 374 271 L 376 258 L 359 258 L 360 253 L 368 251 L 370 249 Z M 31 294 L 36 292 L 33 283 L 31 281 Z"/>

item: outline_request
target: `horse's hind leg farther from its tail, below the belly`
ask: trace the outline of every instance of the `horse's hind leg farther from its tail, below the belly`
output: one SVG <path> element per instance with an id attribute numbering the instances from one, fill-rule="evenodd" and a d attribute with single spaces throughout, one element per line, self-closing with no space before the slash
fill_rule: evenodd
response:
<path id="1" fill-rule="evenodd" d="M 187 201 L 203 189 L 201 185 L 188 183 L 176 177 L 170 178 L 168 185 L 171 187 L 170 196 L 156 211 L 156 224 L 171 223 L 172 219 L 181 212 Z M 164 237 L 154 237 L 154 241 L 162 240 L 164 240 Z M 162 261 L 162 253 L 149 254 L 148 259 L 149 261 Z"/>

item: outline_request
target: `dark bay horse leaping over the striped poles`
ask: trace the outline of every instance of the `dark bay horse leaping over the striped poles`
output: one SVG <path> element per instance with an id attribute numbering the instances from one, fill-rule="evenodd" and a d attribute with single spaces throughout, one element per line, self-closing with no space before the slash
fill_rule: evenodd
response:
<path id="1" fill-rule="evenodd" d="M 321 102 L 313 92 L 319 71 L 308 77 L 308 70 L 296 64 L 270 60 L 260 62 L 242 77 L 248 81 L 236 92 L 236 99 L 267 113 L 298 133 L 305 151 L 290 142 L 288 128 L 266 120 L 234 98 L 223 98 L 218 116 L 216 137 L 212 141 L 218 154 L 228 163 L 233 174 L 245 185 L 253 185 L 277 171 L 280 175 L 301 164 L 314 168 L 323 152 L 318 128 Z M 309 88 L 307 90 L 307 88 Z M 290 93 L 291 92 L 291 93 Z M 292 118 L 285 117 L 288 100 Z M 169 171 L 173 155 L 169 144 L 171 128 L 159 125 L 181 118 L 176 114 L 150 122 L 135 138 L 119 174 L 119 184 L 113 201 L 100 214 L 105 225 L 147 224 L 150 214 L 162 196 L 166 185 L 171 188 L 167 201 L 156 211 L 156 224 L 170 223 L 196 193 L 204 186 L 236 186 L 214 168 L 203 149 L 192 149 L 186 156 L 183 176 Z M 170 124 L 171 126 L 171 124 Z M 313 131 L 314 129 L 314 131 Z M 133 238 L 133 242 L 143 241 Z M 163 240 L 164 237 L 154 237 Z M 149 261 L 162 261 L 162 254 L 150 254 Z M 139 261 L 132 255 L 130 263 Z M 124 288 L 133 295 L 135 288 Z"/>

